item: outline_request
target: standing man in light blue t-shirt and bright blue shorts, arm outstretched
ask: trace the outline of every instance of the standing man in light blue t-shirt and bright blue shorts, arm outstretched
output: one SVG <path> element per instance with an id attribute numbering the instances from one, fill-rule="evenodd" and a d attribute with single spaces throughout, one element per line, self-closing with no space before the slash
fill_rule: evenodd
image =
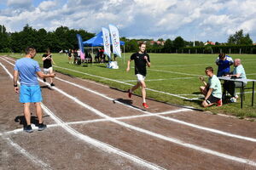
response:
<path id="1" fill-rule="evenodd" d="M 38 130 L 42 131 L 46 128 L 42 117 L 42 108 L 40 104 L 42 101 L 42 94 L 38 84 L 38 77 L 55 77 L 55 74 L 45 75 L 40 70 L 38 62 L 33 59 L 37 54 L 35 48 L 28 47 L 25 49 L 25 53 L 26 56 L 22 59 L 18 59 L 15 63 L 14 86 L 15 93 L 20 93 L 20 103 L 23 103 L 24 105 L 24 116 L 26 118 L 24 131 L 32 133 L 30 103 L 34 103 L 36 106 Z M 18 77 L 20 77 L 20 89 L 17 85 Z"/>

